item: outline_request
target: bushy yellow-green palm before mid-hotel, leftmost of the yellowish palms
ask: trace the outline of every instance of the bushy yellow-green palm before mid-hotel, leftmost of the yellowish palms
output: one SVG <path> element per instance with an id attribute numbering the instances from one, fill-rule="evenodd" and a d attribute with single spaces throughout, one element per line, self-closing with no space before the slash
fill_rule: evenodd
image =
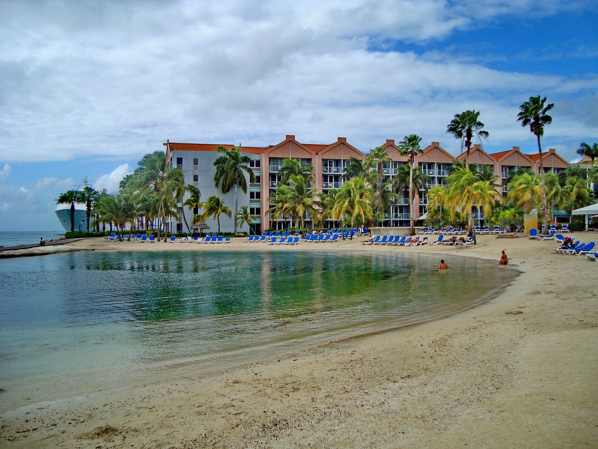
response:
<path id="1" fill-rule="evenodd" d="M 332 218 L 341 221 L 345 215 L 351 217 L 351 229 L 355 227 L 355 222 L 364 224 L 366 220 L 373 216 L 371 200 L 373 190 L 365 184 L 362 178 L 356 177 L 347 181 L 341 186 L 335 197 L 334 208 L 332 208 Z"/>

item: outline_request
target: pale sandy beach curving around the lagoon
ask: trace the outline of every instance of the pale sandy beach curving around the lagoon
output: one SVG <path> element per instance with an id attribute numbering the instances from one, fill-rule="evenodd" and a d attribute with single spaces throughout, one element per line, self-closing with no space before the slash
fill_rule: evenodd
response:
<path id="1" fill-rule="evenodd" d="M 575 234 L 596 241 L 598 233 Z M 82 250 L 413 251 L 520 272 L 504 292 L 450 317 L 209 375 L 36 404 L 1 416 L 2 447 L 598 447 L 598 263 L 553 241 L 478 245 L 141 244 Z M 43 256 L 46 257 L 46 256 Z M 449 273 L 450 275 L 450 273 Z M 1 394 L 1 393 L 0 393 Z"/>

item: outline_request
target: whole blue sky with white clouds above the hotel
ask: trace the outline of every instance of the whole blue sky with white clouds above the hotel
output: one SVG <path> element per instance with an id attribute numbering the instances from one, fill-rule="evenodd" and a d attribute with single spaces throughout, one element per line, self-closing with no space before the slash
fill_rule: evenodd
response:
<path id="1" fill-rule="evenodd" d="M 0 2 L 0 231 L 62 230 L 84 177 L 117 190 L 163 142 L 364 152 L 439 141 L 474 109 L 486 151 L 538 151 L 516 121 L 555 104 L 544 148 L 598 141 L 593 0 Z"/>

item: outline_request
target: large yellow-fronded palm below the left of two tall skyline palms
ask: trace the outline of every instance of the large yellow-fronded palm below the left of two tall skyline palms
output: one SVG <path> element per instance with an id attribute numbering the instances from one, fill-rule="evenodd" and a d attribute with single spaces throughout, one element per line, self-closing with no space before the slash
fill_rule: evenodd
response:
<path id="1" fill-rule="evenodd" d="M 478 181 L 475 175 L 468 169 L 462 168 L 447 176 L 449 191 L 447 193 L 447 205 L 459 208 L 469 218 L 469 235 L 474 236 L 473 207 L 491 209 L 494 199 L 499 196 L 498 192 L 490 186 L 488 181 Z"/>

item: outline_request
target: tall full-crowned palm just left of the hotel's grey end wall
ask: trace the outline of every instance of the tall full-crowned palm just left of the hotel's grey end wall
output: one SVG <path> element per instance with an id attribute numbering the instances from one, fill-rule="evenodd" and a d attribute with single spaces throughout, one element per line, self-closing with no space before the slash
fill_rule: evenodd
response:
<path id="1" fill-rule="evenodd" d="M 133 172 L 132 187 L 139 193 L 148 193 L 153 191 L 158 198 L 158 216 L 161 216 L 162 225 L 166 231 L 166 209 L 164 208 L 164 199 L 172 199 L 176 192 L 176 186 L 181 184 L 184 178 L 180 168 L 173 168 L 166 162 L 164 151 L 154 151 L 154 153 L 145 154 L 137 163 L 139 168 Z M 127 184 L 128 185 L 128 184 Z M 158 226 L 158 240 L 160 239 L 160 227 Z M 164 241 L 166 242 L 166 232 L 164 232 Z"/>

